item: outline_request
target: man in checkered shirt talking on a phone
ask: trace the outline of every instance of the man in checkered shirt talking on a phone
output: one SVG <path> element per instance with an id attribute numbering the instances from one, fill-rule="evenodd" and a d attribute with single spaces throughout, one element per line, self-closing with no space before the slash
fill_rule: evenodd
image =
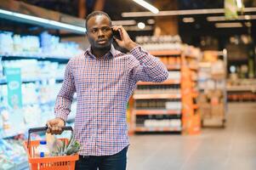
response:
<path id="1" fill-rule="evenodd" d="M 159 59 L 133 42 L 122 26 L 111 27 L 108 14 L 89 14 L 86 28 L 91 46 L 66 65 L 56 99 L 56 118 L 47 122 L 48 133 L 61 133 L 77 92 L 74 133 L 81 150 L 76 169 L 124 170 L 129 144 L 128 99 L 136 82 L 163 82 L 168 71 Z M 121 40 L 113 37 L 111 28 L 119 31 Z M 113 39 L 130 54 L 117 51 Z"/>

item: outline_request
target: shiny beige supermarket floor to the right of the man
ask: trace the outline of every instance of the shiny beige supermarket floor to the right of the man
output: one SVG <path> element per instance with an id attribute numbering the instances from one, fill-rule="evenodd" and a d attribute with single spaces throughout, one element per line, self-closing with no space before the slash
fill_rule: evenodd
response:
<path id="1" fill-rule="evenodd" d="M 231 103 L 225 129 L 199 136 L 135 135 L 128 170 L 256 169 L 256 103 Z"/>

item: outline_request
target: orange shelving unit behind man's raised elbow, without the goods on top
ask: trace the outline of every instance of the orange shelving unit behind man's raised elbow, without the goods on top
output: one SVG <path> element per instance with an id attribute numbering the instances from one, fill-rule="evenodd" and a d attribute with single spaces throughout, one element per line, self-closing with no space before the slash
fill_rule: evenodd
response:
<path id="1" fill-rule="evenodd" d="M 151 42 L 151 38 L 149 38 L 148 41 Z M 145 44 L 148 44 L 148 41 L 143 42 L 139 39 L 139 42 Z M 163 41 L 161 43 L 168 47 L 169 42 Z M 191 121 L 195 117 L 196 121 L 199 121 L 197 118 L 198 114 L 196 114 L 195 111 L 198 106 L 194 103 L 196 103 L 195 98 L 198 96 L 198 89 L 195 88 L 198 82 L 196 72 L 199 70 L 198 59 L 201 52 L 198 48 L 192 46 L 185 45 L 183 47 L 182 49 L 178 48 L 178 50 L 161 50 L 161 48 L 158 48 L 159 50 L 157 51 L 150 51 L 150 54 L 159 57 L 162 64 L 167 67 L 169 77 L 173 78 L 173 80 L 167 80 L 161 83 L 138 82 L 137 85 L 140 85 L 140 87 L 138 86 L 139 88 L 135 90 L 131 101 L 131 105 L 134 105 L 134 110 L 132 111 L 134 115 L 134 121 L 132 122 L 134 132 L 200 132 L 200 127 L 196 127 L 200 123 L 196 122 L 195 124 L 191 124 Z M 155 49 L 157 49 L 157 47 Z M 174 74 L 173 77 L 171 76 L 172 74 Z M 174 79 L 175 77 L 177 79 Z M 162 84 L 169 86 L 161 86 Z M 154 87 L 141 87 L 141 85 L 154 85 Z M 155 88 L 156 90 L 154 90 Z M 167 107 L 162 105 L 163 102 Z M 176 107 L 175 104 L 172 104 L 172 102 L 179 102 L 179 108 L 178 106 Z M 160 104 L 162 105 L 162 109 L 157 109 L 157 107 L 152 106 Z M 185 105 L 188 105 L 188 107 L 185 107 Z M 180 111 L 177 111 L 176 108 Z M 190 115 L 186 113 L 187 110 L 184 111 L 186 108 Z M 151 124 L 151 121 L 157 122 L 157 118 L 154 120 L 155 116 L 172 117 L 170 118 L 172 120 L 174 117 L 177 121 L 179 120 L 180 124 L 174 124 L 174 127 L 172 127 L 172 124 L 170 124 L 170 126 L 164 123 Z M 142 123 L 143 120 L 147 122 Z"/>

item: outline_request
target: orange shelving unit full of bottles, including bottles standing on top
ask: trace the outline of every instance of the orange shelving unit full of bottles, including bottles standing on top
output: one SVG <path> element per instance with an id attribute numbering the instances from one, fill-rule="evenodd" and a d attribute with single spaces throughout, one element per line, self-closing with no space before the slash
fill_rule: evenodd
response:
<path id="1" fill-rule="evenodd" d="M 194 101 L 201 51 L 172 36 L 136 37 L 136 42 L 166 65 L 169 76 L 161 83 L 138 83 L 131 102 L 131 127 L 135 132 L 199 133 L 200 116 Z"/>

